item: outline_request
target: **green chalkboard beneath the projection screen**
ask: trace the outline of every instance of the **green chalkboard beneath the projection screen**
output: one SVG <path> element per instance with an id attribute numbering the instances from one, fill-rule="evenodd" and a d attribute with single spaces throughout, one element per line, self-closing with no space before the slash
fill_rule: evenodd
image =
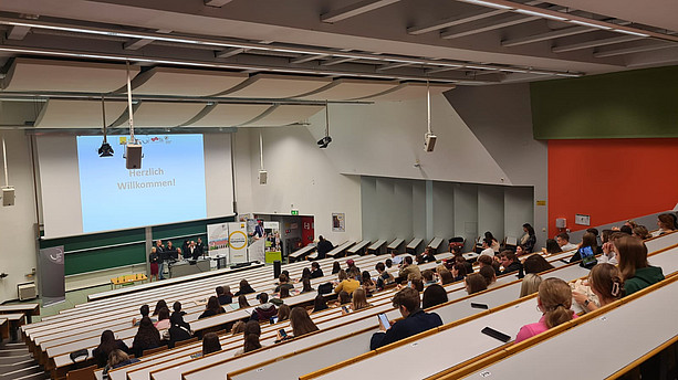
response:
<path id="1" fill-rule="evenodd" d="M 152 235 L 154 240 L 187 235 L 195 236 L 195 239 L 201 236 L 207 242 L 207 224 L 232 222 L 233 220 L 233 217 L 225 217 L 158 225 L 152 228 Z M 63 245 L 65 250 L 65 275 L 146 262 L 145 229 L 40 240 L 41 249 L 58 245 Z"/>

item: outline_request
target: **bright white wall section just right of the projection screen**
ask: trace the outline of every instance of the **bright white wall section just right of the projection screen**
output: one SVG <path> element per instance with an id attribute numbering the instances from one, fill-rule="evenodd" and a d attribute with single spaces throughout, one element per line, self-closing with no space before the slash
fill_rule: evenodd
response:
<path id="1" fill-rule="evenodd" d="M 263 135 L 268 183 L 259 184 L 259 133 Z M 236 134 L 239 213 L 286 213 L 298 209 L 315 217 L 315 235 L 333 243 L 362 238 L 361 179 L 340 175 L 303 126 L 241 128 Z M 244 144 L 249 141 L 249 159 Z M 249 186 L 246 183 L 249 173 Z M 249 187 L 249 189 L 248 189 Z M 248 192 L 251 203 L 248 205 Z M 332 213 L 346 214 L 346 231 L 332 231 Z"/>

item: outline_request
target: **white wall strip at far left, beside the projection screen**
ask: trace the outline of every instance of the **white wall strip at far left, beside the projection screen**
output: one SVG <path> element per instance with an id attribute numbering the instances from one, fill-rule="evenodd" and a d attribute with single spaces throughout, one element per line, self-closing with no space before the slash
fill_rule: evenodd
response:
<path id="1" fill-rule="evenodd" d="M 9 184 L 15 189 L 14 205 L 0 207 L 0 272 L 9 274 L 0 279 L 0 297 L 14 299 L 18 297 L 17 284 L 33 281 L 25 275 L 36 267 L 35 196 L 29 137 L 22 130 L 2 130 L 0 135 L 7 144 Z M 3 169 L 0 169 L 0 178 L 4 186 Z"/>

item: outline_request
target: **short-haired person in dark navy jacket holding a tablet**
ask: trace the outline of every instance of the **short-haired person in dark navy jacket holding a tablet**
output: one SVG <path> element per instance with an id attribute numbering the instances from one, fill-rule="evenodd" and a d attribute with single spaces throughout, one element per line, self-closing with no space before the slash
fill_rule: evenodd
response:
<path id="1" fill-rule="evenodd" d="M 419 292 L 405 287 L 393 297 L 393 306 L 400 310 L 403 319 L 392 324 L 386 329 L 379 321 L 380 332 L 375 332 L 369 341 L 369 349 L 393 344 L 419 332 L 442 325 L 442 319 L 436 313 L 424 313 L 420 309 Z"/>

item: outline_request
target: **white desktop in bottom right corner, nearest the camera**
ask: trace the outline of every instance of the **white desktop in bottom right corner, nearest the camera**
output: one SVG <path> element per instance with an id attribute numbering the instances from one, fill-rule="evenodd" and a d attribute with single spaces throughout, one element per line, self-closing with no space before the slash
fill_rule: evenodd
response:
<path id="1" fill-rule="evenodd" d="M 573 358 L 573 352 L 576 352 L 577 358 L 592 360 L 585 366 L 587 379 L 605 379 L 661 346 L 669 337 L 678 335 L 674 319 L 678 314 L 676 292 L 678 282 L 620 305 L 467 378 L 522 379 L 525 377 L 525 363 L 539 363 L 539 367 L 549 369 L 550 380 L 570 380 L 573 378 L 573 362 L 567 358 Z M 643 316 L 646 328 L 629 328 L 639 316 Z"/>

